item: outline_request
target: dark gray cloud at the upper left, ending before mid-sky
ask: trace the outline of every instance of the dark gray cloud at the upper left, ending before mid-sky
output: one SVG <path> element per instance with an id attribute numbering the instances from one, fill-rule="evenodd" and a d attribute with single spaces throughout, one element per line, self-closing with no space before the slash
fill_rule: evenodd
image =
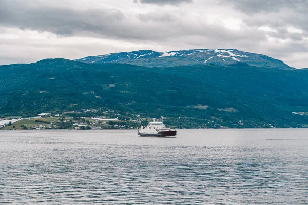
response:
<path id="1" fill-rule="evenodd" d="M 31 7 L 24 3 L 3 0 L 0 7 L 0 24 L 60 35 L 98 30 L 108 35 L 110 27 L 124 18 L 124 14 L 116 9 L 74 10 L 61 7 Z"/>

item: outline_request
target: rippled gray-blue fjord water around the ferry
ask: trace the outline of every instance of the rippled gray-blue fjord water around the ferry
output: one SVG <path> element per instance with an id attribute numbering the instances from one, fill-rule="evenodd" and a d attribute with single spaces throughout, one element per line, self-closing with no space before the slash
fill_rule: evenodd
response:
<path id="1" fill-rule="evenodd" d="M 0 156 L 0 203 L 308 203 L 307 129 L 0 131 Z"/>

